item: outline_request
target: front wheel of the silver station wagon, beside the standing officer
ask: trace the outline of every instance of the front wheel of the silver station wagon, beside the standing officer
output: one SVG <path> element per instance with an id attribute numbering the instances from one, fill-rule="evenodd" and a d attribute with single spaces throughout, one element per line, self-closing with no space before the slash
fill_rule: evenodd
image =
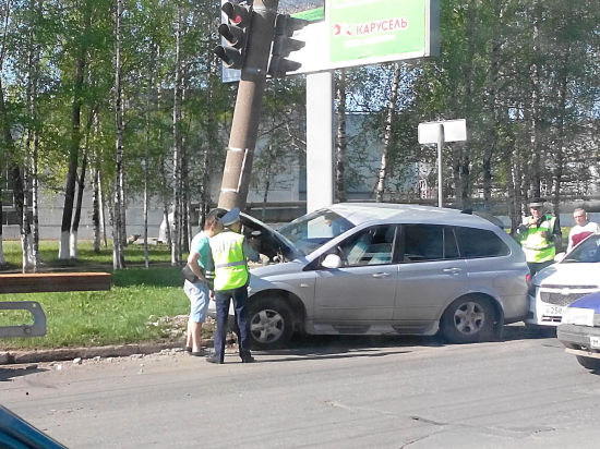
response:
<path id="1" fill-rule="evenodd" d="M 250 339 L 254 349 L 284 347 L 293 333 L 293 314 L 277 298 L 261 298 L 250 303 Z"/>

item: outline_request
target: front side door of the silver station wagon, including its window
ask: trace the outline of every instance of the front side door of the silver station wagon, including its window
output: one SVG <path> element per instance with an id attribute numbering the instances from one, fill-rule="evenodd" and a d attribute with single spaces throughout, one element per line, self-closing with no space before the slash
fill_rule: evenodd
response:
<path id="1" fill-rule="evenodd" d="M 395 225 L 362 229 L 335 252 L 343 266 L 315 272 L 315 323 L 367 324 L 392 320 L 398 280 L 393 263 Z"/>

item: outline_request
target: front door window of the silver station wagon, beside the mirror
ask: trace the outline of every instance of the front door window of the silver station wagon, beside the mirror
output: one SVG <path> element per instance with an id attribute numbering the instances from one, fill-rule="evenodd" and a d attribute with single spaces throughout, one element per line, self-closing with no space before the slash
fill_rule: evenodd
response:
<path id="1" fill-rule="evenodd" d="M 363 229 L 340 245 L 341 259 L 348 267 L 391 264 L 394 254 L 395 225 Z"/>

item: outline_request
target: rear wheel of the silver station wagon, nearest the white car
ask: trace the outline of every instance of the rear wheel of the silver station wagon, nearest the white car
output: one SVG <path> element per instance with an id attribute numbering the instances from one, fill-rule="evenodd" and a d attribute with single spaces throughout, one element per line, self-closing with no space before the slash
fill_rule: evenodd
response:
<path id="1" fill-rule="evenodd" d="M 442 335 L 452 343 L 475 343 L 491 340 L 495 313 L 489 301 L 464 296 L 454 301 L 441 320 Z"/>

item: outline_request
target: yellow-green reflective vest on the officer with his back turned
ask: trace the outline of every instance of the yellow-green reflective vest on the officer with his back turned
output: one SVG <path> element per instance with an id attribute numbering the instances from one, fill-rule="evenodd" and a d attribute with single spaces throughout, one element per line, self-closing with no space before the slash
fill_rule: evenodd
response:
<path id="1" fill-rule="evenodd" d="M 248 265 L 243 254 L 243 235 L 225 231 L 211 238 L 215 260 L 215 290 L 232 290 L 248 282 Z"/>

